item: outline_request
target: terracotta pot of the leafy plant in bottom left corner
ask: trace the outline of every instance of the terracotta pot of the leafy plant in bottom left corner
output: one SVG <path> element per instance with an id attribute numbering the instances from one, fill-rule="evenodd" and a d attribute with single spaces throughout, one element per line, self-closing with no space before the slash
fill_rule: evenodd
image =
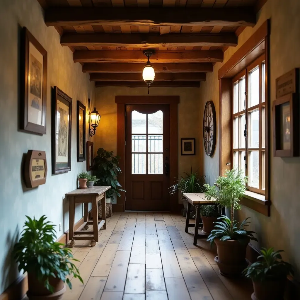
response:
<path id="1" fill-rule="evenodd" d="M 53 286 L 53 293 L 48 291 L 44 282 L 38 281 L 35 274 L 28 274 L 28 292 L 29 300 L 60 300 L 66 291 L 64 282 L 59 278 L 49 277 L 49 283 Z"/>

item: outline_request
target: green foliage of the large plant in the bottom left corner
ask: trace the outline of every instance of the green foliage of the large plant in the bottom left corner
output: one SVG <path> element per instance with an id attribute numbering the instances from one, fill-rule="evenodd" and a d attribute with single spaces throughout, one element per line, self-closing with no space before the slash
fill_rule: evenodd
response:
<path id="1" fill-rule="evenodd" d="M 44 286 L 53 292 L 49 277 L 58 277 L 66 282 L 70 289 L 72 283 L 67 275 L 73 275 L 82 283 L 79 271 L 73 264 L 78 261 L 73 258 L 69 248 L 62 248 L 63 244 L 55 242 L 55 229 L 45 216 L 39 220 L 27 217 L 21 238 L 13 249 L 14 259 L 19 262 L 19 271 L 24 270 L 35 274 Z"/>

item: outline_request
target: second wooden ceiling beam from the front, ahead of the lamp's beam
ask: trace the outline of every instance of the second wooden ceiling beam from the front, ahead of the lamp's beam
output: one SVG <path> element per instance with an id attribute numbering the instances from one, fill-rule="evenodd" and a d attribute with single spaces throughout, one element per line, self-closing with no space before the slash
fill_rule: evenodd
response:
<path id="1" fill-rule="evenodd" d="M 234 32 L 217 34 L 64 34 L 62 46 L 114 46 L 114 47 L 180 47 L 180 46 L 236 46 Z"/>

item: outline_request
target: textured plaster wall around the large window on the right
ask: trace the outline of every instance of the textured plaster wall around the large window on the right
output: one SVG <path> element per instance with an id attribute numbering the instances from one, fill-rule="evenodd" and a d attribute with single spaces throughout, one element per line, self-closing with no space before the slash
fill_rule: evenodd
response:
<path id="1" fill-rule="evenodd" d="M 224 62 L 262 25 L 271 18 L 270 36 L 270 80 L 271 101 L 275 99 L 275 79 L 292 68 L 300 67 L 300 1 L 268 0 L 258 13 L 254 28 L 245 29 L 238 37 L 238 46 L 230 47 L 224 53 Z M 214 101 L 219 124 L 219 82 L 217 72 L 221 63 L 214 66 L 214 72 L 207 74 L 206 82 L 200 87 L 200 119 L 205 102 Z M 271 124 L 272 124 L 271 119 Z M 201 128 L 201 127 L 200 127 Z M 271 149 L 273 146 L 271 127 Z M 219 133 L 218 133 L 219 134 Z M 203 141 L 200 141 L 203 149 Z M 202 158 L 200 158 L 201 161 Z M 219 175 L 219 140 L 213 158 L 203 157 L 204 171 L 210 184 Z M 239 218 L 251 217 L 251 229 L 257 232 L 258 247 L 283 249 L 285 259 L 291 262 L 300 274 L 300 201 L 299 201 L 300 158 L 278 158 L 271 151 L 271 217 L 265 217 L 250 208 L 243 207 Z M 255 243 L 254 243 L 255 244 Z"/>

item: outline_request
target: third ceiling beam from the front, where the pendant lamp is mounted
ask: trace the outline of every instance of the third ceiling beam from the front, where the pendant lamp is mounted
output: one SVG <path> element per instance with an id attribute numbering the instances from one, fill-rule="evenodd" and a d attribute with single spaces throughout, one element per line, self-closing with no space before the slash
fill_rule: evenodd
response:
<path id="1" fill-rule="evenodd" d="M 158 50 L 152 56 L 152 63 L 222 62 L 222 50 Z M 140 62 L 147 58 L 139 50 L 76 50 L 74 62 Z"/>

